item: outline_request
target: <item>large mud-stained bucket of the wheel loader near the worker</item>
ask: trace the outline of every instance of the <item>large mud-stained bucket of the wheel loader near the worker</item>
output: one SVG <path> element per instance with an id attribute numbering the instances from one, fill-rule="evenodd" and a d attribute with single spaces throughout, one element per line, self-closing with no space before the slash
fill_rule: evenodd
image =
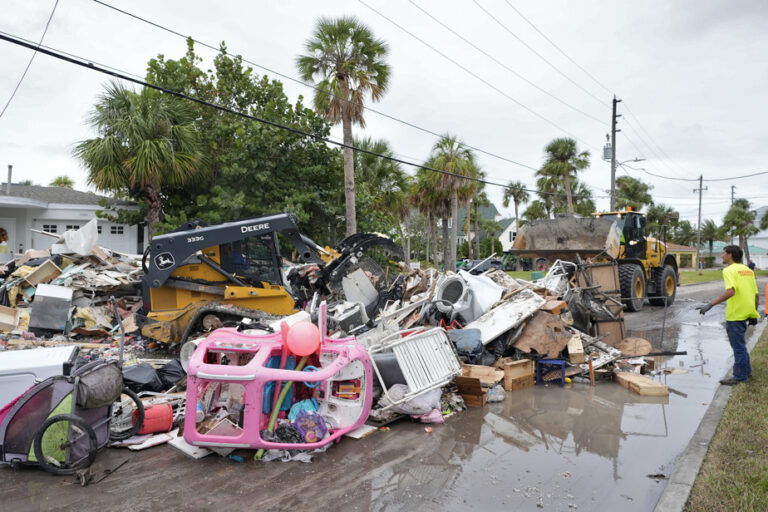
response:
<path id="1" fill-rule="evenodd" d="M 600 217 L 558 217 L 532 221 L 520 228 L 513 252 L 539 254 L 550 258 L 573 259 L 575 253 L 619 256 L 621 230 L 613 219 Z"/>

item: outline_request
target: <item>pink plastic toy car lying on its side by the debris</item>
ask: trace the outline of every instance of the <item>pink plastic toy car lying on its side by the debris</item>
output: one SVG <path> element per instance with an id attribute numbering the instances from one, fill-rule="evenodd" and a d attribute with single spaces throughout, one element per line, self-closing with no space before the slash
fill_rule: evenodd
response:
<path id="1" fill-rule="evenodd" d="M 228 448 L 307 449 L 325 446 L 338 440 L 345 433 L 356 429 L 368 418 L 373 391 L 373 370 L 366 350 L 356 338 L 328 338 L 325 327 L 326 306 L 320 307 L 320 325 L 296 324 L 287 332 L 266 335 L 249 335 L 236 329 L 217 329 L 202 341 L 189 361 L 187 373 L 187 414 L 184 419 L 184 440 L 196 446 Z M 299 326 L 296 333 L 292 329 Z M 319 328 L 319 333 L 318 333 Z M 313 334 L 314 333 L 314 334 Z M 316 345 L 320 335 L 320 364 L 317 371 L 294 371 L 267 367 L 267 361 L 284 353 L 284 340 L 291 352 L 304 356 Z M 300 340 L 299 338 L 306 339 Z M 315 336 L 315 340 L 311 340 Z M 291 339 L 296 337 L 295 339 Z M 298 350 L 298 353 L 294 351 Z M 282 359 L 281 366 L 285 365 Z M 314 388 L 319 404 L 318 414 L 325 421 L 328 435 L 313 443 L 274 443 L 265 441 L 260 430 L 266 427 L 269 413 L 264 413 L 264 388 L 282 381 L 319 382 Z M 240 396 L 242 397 L 240 398 Z M 225 397 L 229 397 L 226 403 Z M 233 399 L 232 397 L 236 397 Z M 203 412 L 220 407 L 228 411 L 227 418 L 209 422 L 203 434 L 198 430 L 195 404 Z M 242 404 L 242 428 L 232 421 L 233 411 Z M 267 410 L 271 411 L 273 403 Z M 221 410 L 221 409 L 220 409 Z"/>

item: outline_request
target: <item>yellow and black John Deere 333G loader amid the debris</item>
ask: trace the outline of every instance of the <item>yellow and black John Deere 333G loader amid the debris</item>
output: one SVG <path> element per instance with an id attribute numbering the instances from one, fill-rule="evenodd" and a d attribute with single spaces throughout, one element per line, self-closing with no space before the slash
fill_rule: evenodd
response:
<path id="1" fill-rule="evenodd" d="M 213 226 L 189 222 L 154 237 L 144 252 L 141 334 L 183 344 L 197 331 L 243 317 L 264 320 L 296 312 L 297 297 L 289 293 L 282 272 L 278 233 L 293 245 L 297 259 L 311 264 L 313 289 L 339 289 L 334 285 L 373 247 L 403 257 L 397 244 L 371 233 L 356 233 L 336 248 L 320 247 L 287 213 Z"/>

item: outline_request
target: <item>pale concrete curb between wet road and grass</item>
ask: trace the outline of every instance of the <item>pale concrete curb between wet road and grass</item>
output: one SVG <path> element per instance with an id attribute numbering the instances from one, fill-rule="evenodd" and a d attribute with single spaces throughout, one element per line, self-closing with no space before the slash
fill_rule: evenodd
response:
<path id="1" fill-rule="evenodd" d="M 752 352 L 757 340 L 760 339 L 768 322 L 761 322 L 751 336 L 748 343 L 749 351 Z M 707 412 L 701 419 L 699 428 L 693 434 L 691 441 L 685 448 L 685 451 L 678 457 L 675 463 L 675 470 L 669 477 L 669 482 L 661 493 L 659 501 L 656 503 L 654 512 L 680 512 L 685 509 L 688 503 L 688 496 L 691 494 L 693 483 L 699 474 L 701 464 L 707 455 L 709 443 L 715 435 L 717 425 L 720 423 L 720 417 L 723 415 L 725 406 L 728 405 L 728 399 L 731 396 L 730 386 L 720 386 L 715 391 L 715 396 L 707 407 Z"/>

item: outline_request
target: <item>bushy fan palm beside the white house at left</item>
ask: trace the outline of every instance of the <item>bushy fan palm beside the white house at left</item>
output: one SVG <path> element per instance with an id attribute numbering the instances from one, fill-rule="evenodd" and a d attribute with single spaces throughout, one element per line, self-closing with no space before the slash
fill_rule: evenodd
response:
<path id="1" fill-rule="evenodd" d="M 194 119 L 188 103 L 113 83 L 89 118 L 101 136 L 75 146 L 89 184 L 146 201 L 150 240 L 162 215 L 163 189 L 189 182 L 202 166 Z"/>

